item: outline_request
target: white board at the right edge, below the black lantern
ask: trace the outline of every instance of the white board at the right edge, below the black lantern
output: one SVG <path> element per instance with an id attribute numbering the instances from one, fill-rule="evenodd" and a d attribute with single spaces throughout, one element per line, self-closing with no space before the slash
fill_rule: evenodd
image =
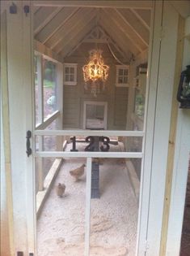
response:
<path id="1" fill-rule="evenodd" d="M 168 256 L 179 256 L 190 153 L 190 112 L 179 110 L 167 232 Z"/>

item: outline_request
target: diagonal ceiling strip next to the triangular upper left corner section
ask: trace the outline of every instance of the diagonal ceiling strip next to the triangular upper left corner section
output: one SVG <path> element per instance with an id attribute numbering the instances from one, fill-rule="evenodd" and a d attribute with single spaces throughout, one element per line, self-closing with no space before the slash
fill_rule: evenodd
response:
<path id="1" fill-rule="evenodd" d="M 49 38 L 53 37 L 57 30 L 59 30 L 75 13 L 79 7 L 64 7 L 57 13 L 55 17 L 46 24 L 46 26 L 40 30 L 40 33 L 36 34 L 36 39 L 45 43 Z"/>

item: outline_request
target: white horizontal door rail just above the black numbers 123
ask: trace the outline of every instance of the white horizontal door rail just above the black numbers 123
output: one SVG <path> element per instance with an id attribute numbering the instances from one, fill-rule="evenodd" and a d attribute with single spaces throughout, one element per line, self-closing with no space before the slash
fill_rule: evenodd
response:
<path id="1" fill-rule="evenodd" d="M 112 130 L 35 130 L 36 136 L 122 136 L 144 137 L 141 131 L 112 131 Z"/>

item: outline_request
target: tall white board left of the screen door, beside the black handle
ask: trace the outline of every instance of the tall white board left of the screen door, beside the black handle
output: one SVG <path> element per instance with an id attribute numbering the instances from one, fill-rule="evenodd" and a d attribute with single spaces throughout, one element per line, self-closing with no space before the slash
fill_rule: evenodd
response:
<path id="1" fill-rule="evenodd" d="M 12 256 L 19 251 L 24 255 L 34 252 L 35 195 L 33 191 L 34 158 L 27 157 L 26 154 L 27 131 L 33 132 L 34 130 L 32 115 L 32 2 L 16 1 L 15 14 L 11 14 L 11 5 L 13 5 L 11 1 L 1 2 L 1 15 L 2 11 L 6 12 L 7 86 L 9 91 L 9 106 L 7 106 L 9 119 L 6 121 L 10 125 L 11 145 L 11 174 L 10 179 L 6 180 L 6 187 L 11 186 L 12 189 L 12 209 L 7 209 L 13 216 L 12 233 L 10 234 L 13 239 Z M 27 15 L 23 11 L 24 6 L 29 7 Z M 33 140 L 30 141 L 33 150 Z"/>

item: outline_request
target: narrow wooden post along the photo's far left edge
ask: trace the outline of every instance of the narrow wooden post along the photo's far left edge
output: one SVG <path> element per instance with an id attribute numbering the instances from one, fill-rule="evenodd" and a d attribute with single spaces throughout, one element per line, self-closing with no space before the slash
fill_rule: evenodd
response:
<path id="1" fill-rule="evenodd" d="M 3 150 L 5 158 L 5 179 L 6 179 L 6 214 L 7 229 L 3 230 L 3 236 L 7 232 L 7 238 L 3 237 L 3 245 L 7 248 L 1 248 L 1 253 L 5 249 L 6 255 L 14 255 L 14 232 L 13 232 L 13 198 L 12 198 L 12 175 L 11 175 L 11 138 L 10 138 L 10 116 L 9 116 L 9 93 L 8 93 L 8 76 L 7 76 L 7 41 L 6 41 L 6 11 L 1 14 L 1 85 L 2 85 L 2 133 L 3 133 Z M 1 219 L 2 221 L 2 219 Z M 2 228 L 2 227 L 1 227 Z M 2 230 L 1 230 L 2 231 Z M 5 239 L 4 239 L 5 238 Z M 2 243 L 1 243 L 2 244 Z"/>

